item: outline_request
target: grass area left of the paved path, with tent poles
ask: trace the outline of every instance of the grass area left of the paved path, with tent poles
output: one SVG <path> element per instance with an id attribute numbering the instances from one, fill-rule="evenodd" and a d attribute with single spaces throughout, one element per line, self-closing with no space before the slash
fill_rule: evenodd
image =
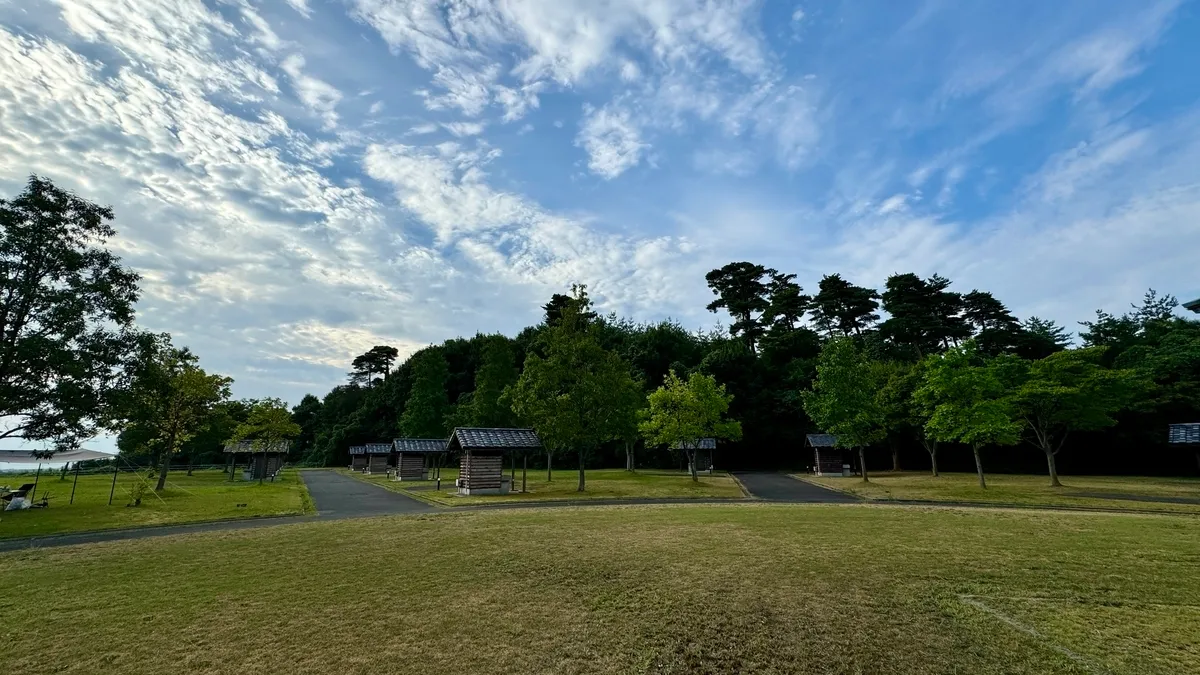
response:
<path id="1" fill-rule="evenodd" d="M 150 490 L 142 497 L 142 506 L 126 507 L 130 489 L 138 479 L 133 473 L 119 474 L 113 506 L 108 506 L 113 476 L 80 476 L 74 503 L 67 503 L 72 477 L 68 474 L 66 480 L 59 480 L 56 472 L 43 472 L 37 484 L 37 498 L 48 494 L 49 508 L 0 512 L 0 539 L 313 510 L 308 491 L 294 470 L 284 471 L 274 483 L 262 485 L 241 480 L 230 483 L 229 476 L 221 471 L 197 471 L 192 476 L 187 476 L 186 471 L 172 471 L 162 492 L 156 496 L 151 482 Z M 0 477 L 0 483 L 7 485 L 32 482 L 32 474 Z"/>

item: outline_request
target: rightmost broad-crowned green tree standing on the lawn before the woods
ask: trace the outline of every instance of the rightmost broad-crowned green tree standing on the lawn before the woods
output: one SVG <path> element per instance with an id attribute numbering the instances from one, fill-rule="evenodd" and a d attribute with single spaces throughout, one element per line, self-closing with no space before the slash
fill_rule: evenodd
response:
<path id="1" fill-rule="evenodd" d="M 1055 456 L 1067 436 L 1112 426 L 1114 414 L 1146 389 L 1135 371 L 1100 366 L 1103 354 L 1104 347 L 1088 347 L 1021 364 L 1010 400 L 1026 440 L 1046 455 L 1051 486 L 1062 486 Z"/>

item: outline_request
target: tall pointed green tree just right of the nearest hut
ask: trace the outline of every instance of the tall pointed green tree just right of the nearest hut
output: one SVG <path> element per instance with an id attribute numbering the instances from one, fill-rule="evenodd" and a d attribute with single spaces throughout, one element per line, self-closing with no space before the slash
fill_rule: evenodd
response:
<path id="1" fill-rule="evenodd" d="M 617 440 L 622 416 L 614 392 L 632 387 L 629 365 L 596 341 L 588 321 L 590 300 L 584 286 L 571 288 L 571 303 L 546 334 L 545 357 L 526 357 L 524 370 L 509 392 L 512 411 L 528 420 L 551 448 L 574 448 L 580 485 L 586 488 L 584 458 L 606 441 Z"/>

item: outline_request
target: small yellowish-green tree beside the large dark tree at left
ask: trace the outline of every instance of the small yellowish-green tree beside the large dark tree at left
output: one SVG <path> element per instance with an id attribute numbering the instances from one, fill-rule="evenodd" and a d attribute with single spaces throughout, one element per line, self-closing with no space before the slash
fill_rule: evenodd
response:
<path id="1" fill-rule="evenodd" d="M 140 430 L 160 455 L 158 485 L 167 485 L 170 459 L 205 424 L 212 407 L 229 398 L 233 380 L 210 375 L 186 347 L 174 347 L 167 335 L 143 340 L 142 356 L 122 417 Z"/>

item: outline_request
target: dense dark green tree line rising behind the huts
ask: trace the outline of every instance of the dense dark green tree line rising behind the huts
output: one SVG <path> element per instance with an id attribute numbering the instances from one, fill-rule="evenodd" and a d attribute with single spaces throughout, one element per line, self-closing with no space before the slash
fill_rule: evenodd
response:
<path id="1" fill-rule="evenodd" d="M 707 282 L 708 310 L 727 312 L 727 328 L 596 316 L 577 287 L 553 295 L 542 321 L 515 338 L 448 340 L 374 380 L 352 376 L 294 408 L 305 460 L 341 465 L 349 446 L 395 434 L 528 424 L 546 440 L 547 466 L 558 454 L 590 466 L 632 467 L 636 456 L 638 466 L 678 467 L 685 458 L 647 446 L 638 420 L 648 394 L 698 374 L 727 393 L 740 424 L 740 438 L 721 444 L 725 467 L 808 466 L 804 435 L 845 432 L 840 408 L 870 418 L 851 444 L 876 468 L 974 470 L 986 454 L 1004 471 L 1195 470 L 1166 446 L 1165 430 L 1200 419 L 1200 322 L 1176 316 L 1169 295 L 1151 291 L 1122 315 L 1098 311 L 1073 345 L 1052 321 L 1020 319 L 991 293 L 959 292 L 940 275 L 895 274 L 881 292 L 830 274 L 810 294 L 793 274 L 737 262 Z M 841 387 L 841 400 L 822 404 L 814 394 L 829 359 L 857 371 L 826 382 Z M 583 381 L 602 383 L 595 400 Z M 545 410 L 564 401 L 577 407 Z"/>

